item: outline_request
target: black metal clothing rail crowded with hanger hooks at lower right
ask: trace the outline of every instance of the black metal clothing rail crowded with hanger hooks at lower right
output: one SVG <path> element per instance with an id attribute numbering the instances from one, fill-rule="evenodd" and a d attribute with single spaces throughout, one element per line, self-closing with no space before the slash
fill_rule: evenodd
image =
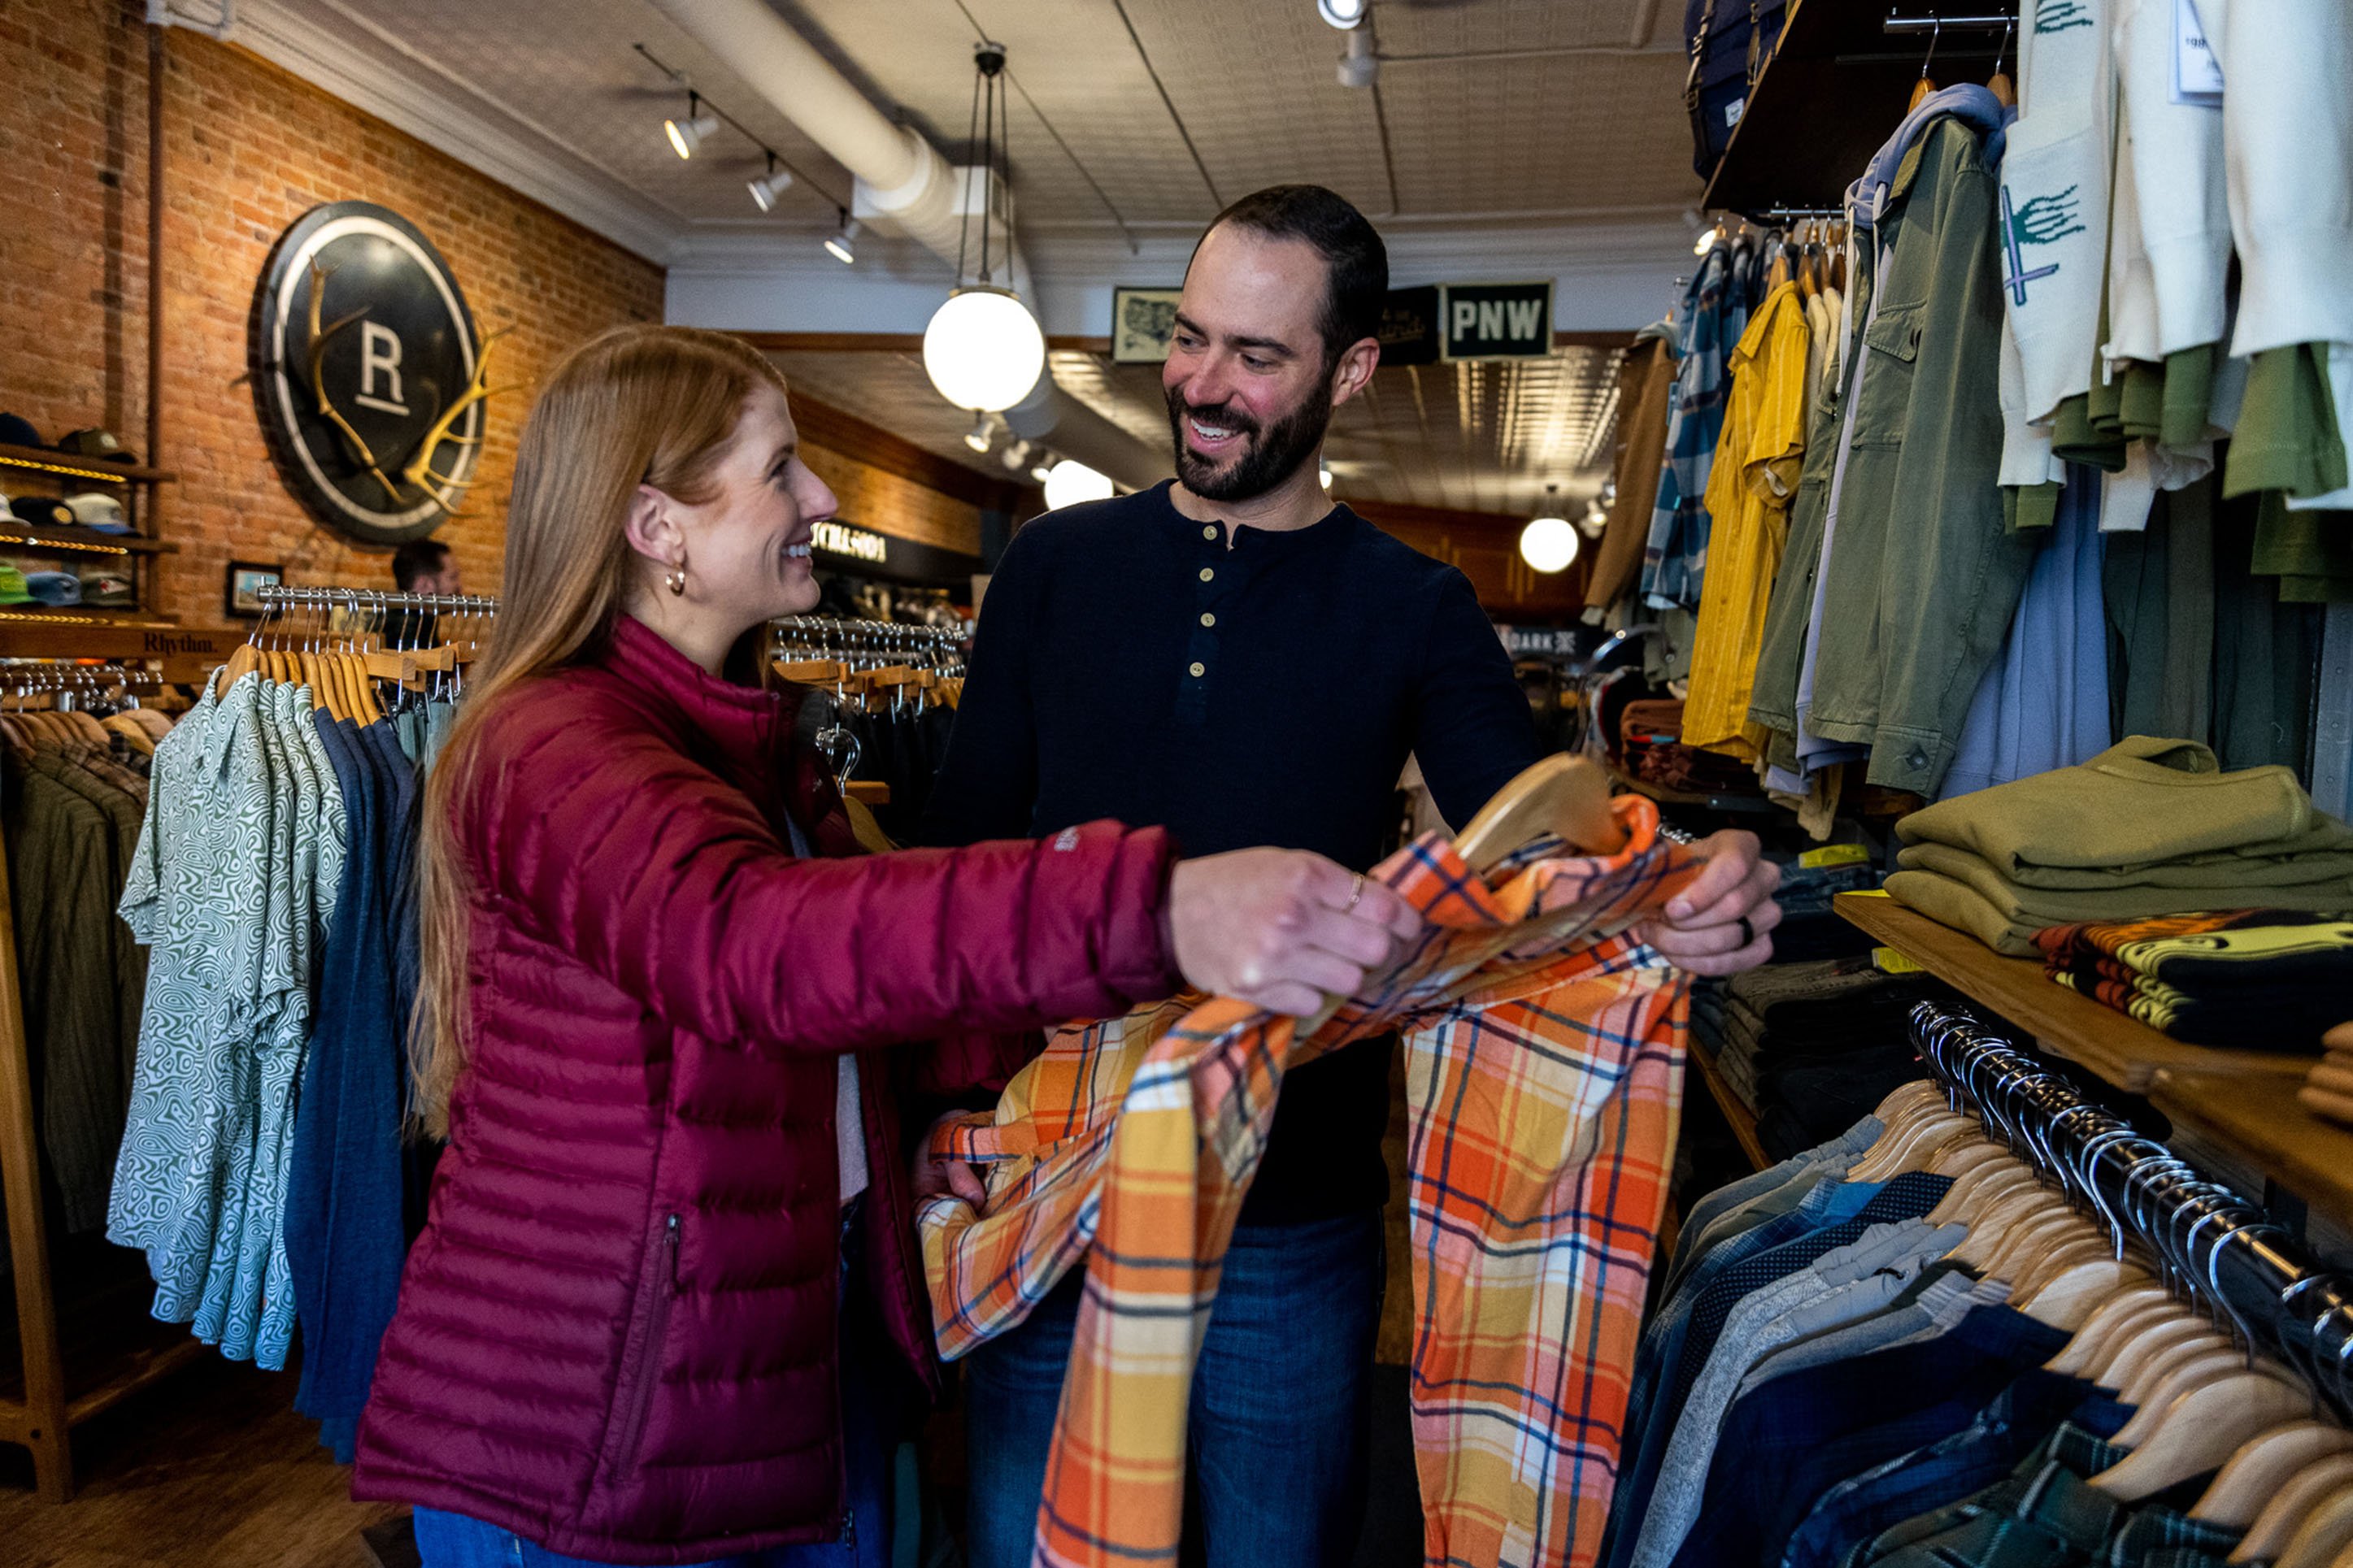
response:
<path id="1" fill-rule="evenodd" d="M 2019 1159 L 2089 1206 L 2162 1279 L 2238 1331 L 2252 1356 L 2278 1352 L 2318 1399 L 2353 1415 L 2353 1276 L 2322 1269 L 2297 1239 L 2233 1187 L 2179 1159 L 1967 1009 L 1922 1001 L 1911 1037 L 1955 1107 L 1967 1107 Z"/>

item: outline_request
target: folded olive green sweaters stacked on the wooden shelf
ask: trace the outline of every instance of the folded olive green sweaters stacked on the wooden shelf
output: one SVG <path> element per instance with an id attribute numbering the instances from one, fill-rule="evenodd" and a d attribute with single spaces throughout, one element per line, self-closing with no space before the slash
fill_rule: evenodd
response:
<path id="1" fill-rule="evenodd" d="M 2353 830 L 2315 811 L 2294 771 L 2224 773 L 2195 741 L 2132 736 L 2080 766 L 1913 811 L 1897 837 L 1889 896 L 2012 957 L 2078 922 L 2353 914 Z"/>

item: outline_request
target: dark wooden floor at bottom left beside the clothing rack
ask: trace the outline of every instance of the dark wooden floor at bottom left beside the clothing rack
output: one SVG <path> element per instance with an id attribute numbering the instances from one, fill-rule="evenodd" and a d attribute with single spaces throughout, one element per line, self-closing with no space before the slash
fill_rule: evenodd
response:
<path id="1" fill-rule="evenodd" d="M 207 1356 L 73 1439 L 73 1502 L 0 1443 L 0 1568 L 376 1568 L 351 1472 L 294 1413 L 294 1373 Z"/>

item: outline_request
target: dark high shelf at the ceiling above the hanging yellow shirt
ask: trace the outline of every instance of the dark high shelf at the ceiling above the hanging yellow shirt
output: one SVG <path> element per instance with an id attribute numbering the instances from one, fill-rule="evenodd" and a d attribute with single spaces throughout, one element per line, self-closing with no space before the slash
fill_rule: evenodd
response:
<path id="1" fill-rule="evenodd" d="M 1765 219 L 1838 207 L 1911 103 L 1922 63 L 1937 82 L 2017 68 L 2017 12 L 1993 5 L 1880 9 L 1859 0 L 1793 0 L 1715 162 L 1701 207 Z"/>

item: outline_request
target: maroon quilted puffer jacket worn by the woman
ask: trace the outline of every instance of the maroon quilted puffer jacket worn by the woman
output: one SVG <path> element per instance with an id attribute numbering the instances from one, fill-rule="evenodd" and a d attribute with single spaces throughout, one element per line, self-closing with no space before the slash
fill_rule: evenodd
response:
<path id="1" fill-rule="evenodd" d="M 854 844 L 791 733 L 628 618 L 501 703 L 456 802 L 471 1065 L 353 1495 L 612 1563 L 835 1537 L 835 1053 L 1176 987 L 1162 832 L 793 860 L 786 797 Z M 868 1286 L 936 1380 L 882 1077 Z"/>

